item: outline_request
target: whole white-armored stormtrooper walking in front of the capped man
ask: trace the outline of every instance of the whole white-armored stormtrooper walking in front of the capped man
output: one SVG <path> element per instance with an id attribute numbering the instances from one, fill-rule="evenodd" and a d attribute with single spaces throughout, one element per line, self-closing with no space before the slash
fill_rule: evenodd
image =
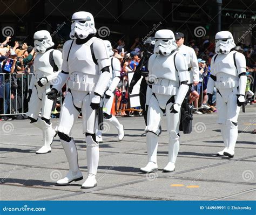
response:
<path id="1" fill-rule="evenodd" d="M 147 156 L 149 163 L 140 168 L 143 172 L 158 169 L 157 145 L 161 117 L 166 112 L 167 131 L 169 132 L 169 162 L 165 172 L 175 169 L 179 151 L 180 107 L 188 91 L 187 64 L 183 54 L 176 51 L 174 33 L 159 30 L 154 38 L 154 54 L 149 59 L 149 82 L 152 95 L 147 112 Z"/>

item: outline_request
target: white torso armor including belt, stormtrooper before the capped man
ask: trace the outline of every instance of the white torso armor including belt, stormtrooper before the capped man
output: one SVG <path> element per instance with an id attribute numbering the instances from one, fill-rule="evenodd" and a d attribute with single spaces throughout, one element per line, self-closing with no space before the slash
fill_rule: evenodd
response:
<path id="1" fill-rule="evenodd" d="M 152 63 L 152 75 L 156 81 L 152 85 L 152 92 L 162 95 L 176 95 L 179 87 L 179 77 L 174 66 L 174 54 L 171 56 L 157 56 Z"/>

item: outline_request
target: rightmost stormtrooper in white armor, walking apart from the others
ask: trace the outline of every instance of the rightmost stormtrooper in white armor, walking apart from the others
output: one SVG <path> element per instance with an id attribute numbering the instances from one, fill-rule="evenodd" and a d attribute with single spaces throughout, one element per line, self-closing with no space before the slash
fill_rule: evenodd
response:
<path id="1" fill-rule="evenodd" d="M 225 148 L 217 155 L 234 156 L 238 137 L 237 120 L 241 106 L 245 102 L 246 61 L 244 54 L 232 51 L 234 39 L 229 31 L 215 35 L 215 56 L 211 61 L 211 77 L 207 83 L 208 100 L 212 103 L 214 86 L 217 89 L 216 106 L 218 123 Z"/>

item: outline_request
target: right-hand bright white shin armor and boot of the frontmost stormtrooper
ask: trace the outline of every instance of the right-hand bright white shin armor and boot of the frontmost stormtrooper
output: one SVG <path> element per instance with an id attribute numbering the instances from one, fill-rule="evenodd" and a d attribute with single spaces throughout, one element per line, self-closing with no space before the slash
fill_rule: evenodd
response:
<path id="1" fill-rule="evenodd" d="M 92 136 L 86 137 L 86 156 L 87 156 L 87 179 L 81 188 L 94 188 L 97 186 L 96 174 L 99 163 L 99 145 L 93 141 Z"/>

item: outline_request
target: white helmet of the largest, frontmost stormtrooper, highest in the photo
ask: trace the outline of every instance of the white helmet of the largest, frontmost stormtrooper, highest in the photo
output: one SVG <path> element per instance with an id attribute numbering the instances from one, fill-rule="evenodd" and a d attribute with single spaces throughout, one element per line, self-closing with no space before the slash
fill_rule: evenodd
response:
<path id="1" fill-rule="evenodd" d="M 91 13 L 79 11 L 73 14 L 71 18 L 71 39 L 85 39 L 89 34 L 95 34 L 96 28 L 94 18 Z"/>

